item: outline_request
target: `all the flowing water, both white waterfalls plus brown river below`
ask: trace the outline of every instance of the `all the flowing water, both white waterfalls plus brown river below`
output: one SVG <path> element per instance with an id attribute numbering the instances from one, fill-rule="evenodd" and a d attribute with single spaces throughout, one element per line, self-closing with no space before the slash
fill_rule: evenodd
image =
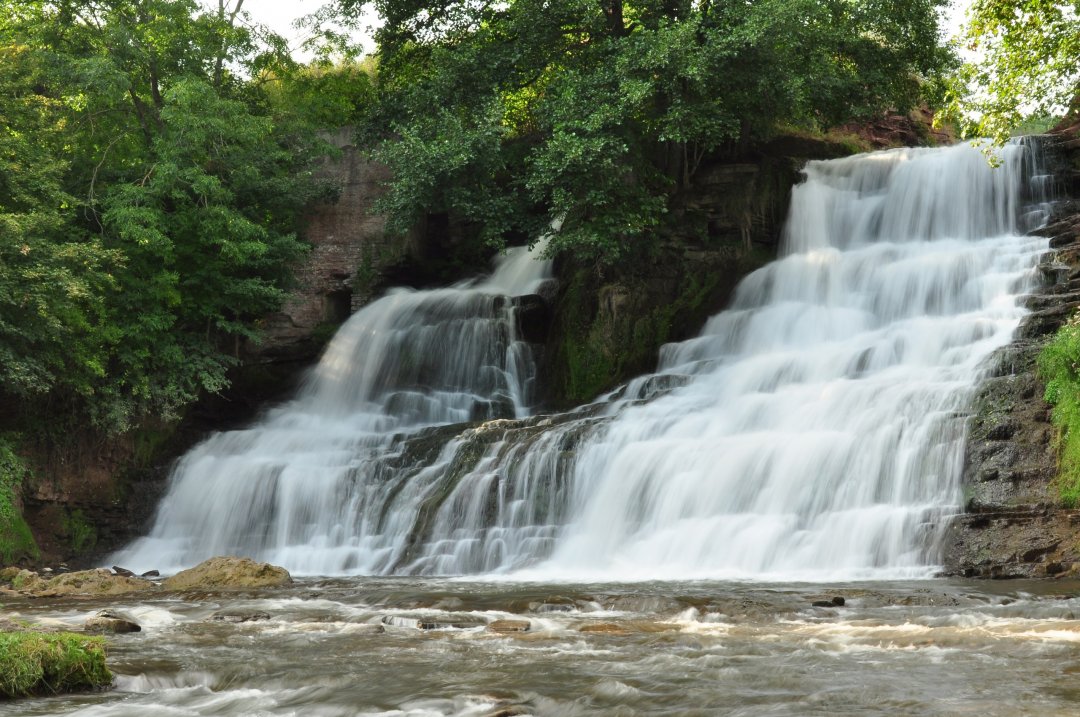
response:
<path id="1" fill-rule="evenodd" d="M 1080 586 L 933 579 L 968 402 L 1047 249 L 1030 148 L 999 160 L 812 162 L 780 258 L 565 414 L 537 415 L 519 330 L 545 262 L 373 303 L 113 559 L 299 581 L 113 604 L 145 626 L 117 689 L 11 714 L 1077 714 Z"/>

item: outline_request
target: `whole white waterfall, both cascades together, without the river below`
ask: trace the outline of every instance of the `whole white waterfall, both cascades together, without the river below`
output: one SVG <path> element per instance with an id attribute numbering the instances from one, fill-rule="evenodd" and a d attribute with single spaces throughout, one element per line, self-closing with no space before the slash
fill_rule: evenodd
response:
<path id="1" fill-rule="evenodd" d="M 569 414 L 417 430 L 500 402 L 521 417 L 528 362 L 500 359 L 521 344 L 490 286 L 391 295 L 349 322 L 296 402 L 185 457 L 151 536 L 116 559 L 928 574 L 961 500 L 963 411 L 1047 247 L 1022 235 L 1041 216 L 1029 154 L 1007 147 L 996 170 L 966 146 L 811 163 L 782 258 L 700 337 L 664 347 L 658 374 Z"/>

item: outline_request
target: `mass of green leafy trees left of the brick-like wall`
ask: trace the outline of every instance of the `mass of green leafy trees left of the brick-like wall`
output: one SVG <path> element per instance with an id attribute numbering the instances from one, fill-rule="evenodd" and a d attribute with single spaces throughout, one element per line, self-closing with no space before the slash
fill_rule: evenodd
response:
<path id="1" fill-rule="evenodd" d="M 175 419 L 280 305 L 327 195 L 315 123 L 364 92 L 349 68 L 298 68 L 239 6 L 0 0 L 9 421 Z"/>

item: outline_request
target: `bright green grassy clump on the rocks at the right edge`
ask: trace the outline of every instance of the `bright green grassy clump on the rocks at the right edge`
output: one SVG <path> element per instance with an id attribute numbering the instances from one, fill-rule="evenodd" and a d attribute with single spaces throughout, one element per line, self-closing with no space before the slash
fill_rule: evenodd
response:
<path id="1" fill-rule="evenodd" d="M 1062 503 L 1080 504 L 1080 316 L 1074 316 L 1039 353 L 1039 375 L 1047 382 L 1045 400 L 1054 407 L 1061 469 Z"/>

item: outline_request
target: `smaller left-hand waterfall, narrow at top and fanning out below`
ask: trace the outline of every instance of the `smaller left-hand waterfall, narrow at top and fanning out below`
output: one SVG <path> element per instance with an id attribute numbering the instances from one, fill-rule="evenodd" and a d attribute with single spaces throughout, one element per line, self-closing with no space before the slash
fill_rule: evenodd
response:
<path id="1" fill-rule="evenodd" d="M 377 491 L 402 436 L 528 412 L 536 370 L 511 296 L 551 275 L 543 244 L 509 249 L 480 283 L 395 289 L 357 312 L 295 401 L 178 461 L 149 537 L 116 559 L 179 569 L 243 554 L 318 573 L 384 568 L 389 556 L 363 536 L 379 520 Z"/>

